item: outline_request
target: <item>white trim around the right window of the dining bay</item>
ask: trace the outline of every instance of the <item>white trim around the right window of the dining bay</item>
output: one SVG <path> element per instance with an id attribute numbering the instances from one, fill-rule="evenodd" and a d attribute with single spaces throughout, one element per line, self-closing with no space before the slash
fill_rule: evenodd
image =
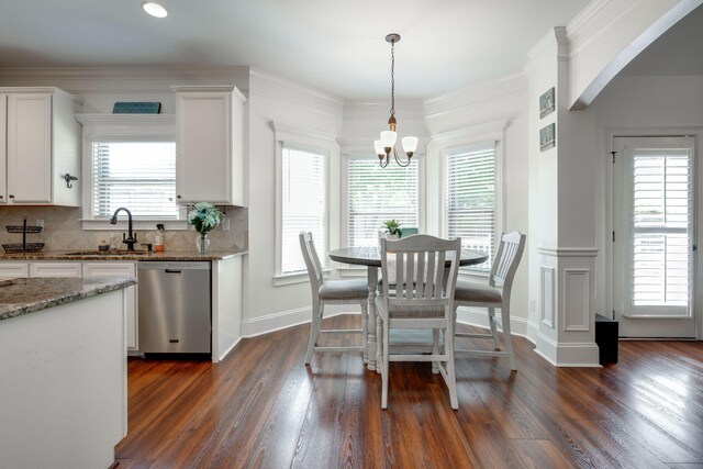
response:
<path id="1" fill-rule="evenodd" d="M 435 134 L 427 145 L 427 155 L 436 158 L 438 197 L 436 209 L 438 216 L 439 236 L 447 236 L 447 183 L 445 174 L 447 170 L 447 156 L 450 153 L 471 150 L 492 144 L 495 147 L 495 231 L 494 239 L 500 239 L 500 235 L 505 226 L 505 171 L 504 171 L 504 141 L 505 129 L 510 124 L 509 120 L 499 120 L 459 129 L 451 132 Z M 460 271 L 460 277 L 488 277 L 488 272 L 465 272 Z"/>

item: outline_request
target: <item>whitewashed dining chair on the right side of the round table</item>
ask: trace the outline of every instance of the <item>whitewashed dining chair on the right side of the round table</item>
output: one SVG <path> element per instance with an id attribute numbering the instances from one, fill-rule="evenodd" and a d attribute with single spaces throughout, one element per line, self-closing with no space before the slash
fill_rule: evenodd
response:
<path id="1" fill-rule="evenodd" d="M 459 333 L 455 332 L 455 337 L 491 338 L 493 350 L 456 348 L 458 342 L 455 340 L 455 355 L 457 356 L 491 356 L 507 357 L 512 370 L 516 370 L 515 356 L 513 354 L 512 336 L 510 334 L 510 293 L 513 288 L 513 278 L 520 265 L 520 259 L 525 249 L 525 235 L 518 232 L 503 233 L 495 254 L 495 259 L 488 277 L 488 282 L 457 281 L 454 293 L 455 311 L 458 306 L 486 308 L 488 310 L 488 323 L 490 334 Z M 503 340 L 505 350 L 500 348 L 495 317 L 495 309 L 501 310 L 501 327 L 503 330 Z"/>

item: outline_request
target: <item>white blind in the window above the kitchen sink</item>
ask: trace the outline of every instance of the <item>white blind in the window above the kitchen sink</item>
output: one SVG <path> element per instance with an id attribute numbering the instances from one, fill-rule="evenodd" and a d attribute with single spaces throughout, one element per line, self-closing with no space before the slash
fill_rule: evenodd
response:
<path id="1" fill-rule="evenodd" d="M 126 206 L 135 219 L 178 220 L 175 142 L 93 142 L 92 215 Z"/>

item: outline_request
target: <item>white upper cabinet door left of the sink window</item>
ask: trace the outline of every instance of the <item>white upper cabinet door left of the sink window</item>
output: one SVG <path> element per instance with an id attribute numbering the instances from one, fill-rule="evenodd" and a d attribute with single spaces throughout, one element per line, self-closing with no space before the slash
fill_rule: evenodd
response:
<path id="1" fill-rule="evenodd" d="M 8 96 L 8 198 L 11 203 L 52 201 L 52 96 Z"/>

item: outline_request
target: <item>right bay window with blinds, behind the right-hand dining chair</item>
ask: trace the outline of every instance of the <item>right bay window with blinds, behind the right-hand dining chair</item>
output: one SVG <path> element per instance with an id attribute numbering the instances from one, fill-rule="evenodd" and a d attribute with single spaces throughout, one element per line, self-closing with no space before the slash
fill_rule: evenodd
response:
<path id="1" fill-rule="evenodd" d="M 495 245 L 495 147 L 446 156 L 447 236 L 460 236 L 462 247 L 487 253 L 487 263 L 467 269 L 488 271 Z"/>

